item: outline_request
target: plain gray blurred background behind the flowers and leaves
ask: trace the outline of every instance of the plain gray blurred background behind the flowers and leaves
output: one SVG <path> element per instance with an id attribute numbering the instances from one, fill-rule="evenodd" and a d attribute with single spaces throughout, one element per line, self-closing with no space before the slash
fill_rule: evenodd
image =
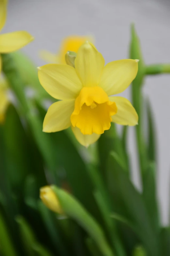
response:
<path id="1" fill-rule="evenodd" d="M 130 24 L 135 22 L 147 64 L 170 62 L 170 1 L 166 0 L 9 0 L 3 32 L 27 30 L 35 41 L 23 51 L 37 66 L 41 49 L 57 52 L 68 35 L 94 35 L 106 63 L 128 57 Z M 147 77 L 143 91 L 149 97 L 158 137 L 158 196 L 163 224 L 168 221 L 170 181 L 170 75 Z M 130 99 L 130 90 L 123 96 Z M 134 145 L 129 129 L 133 177 L 140 189 Z"/>

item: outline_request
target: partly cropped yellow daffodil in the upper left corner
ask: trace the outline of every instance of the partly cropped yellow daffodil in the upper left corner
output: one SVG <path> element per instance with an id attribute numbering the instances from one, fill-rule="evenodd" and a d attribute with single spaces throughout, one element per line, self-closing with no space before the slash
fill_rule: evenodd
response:
<path id="1" fill-rule="evenodd" d="M 7 17 L 7 0 L 0 0 L 0 30 L 4 27 Z M 34 38 L 26 31 L 16 31 L 0 35 L 0 53 L 19 50 Z M 1 70 L 0 57 L 0 70 Z"/>

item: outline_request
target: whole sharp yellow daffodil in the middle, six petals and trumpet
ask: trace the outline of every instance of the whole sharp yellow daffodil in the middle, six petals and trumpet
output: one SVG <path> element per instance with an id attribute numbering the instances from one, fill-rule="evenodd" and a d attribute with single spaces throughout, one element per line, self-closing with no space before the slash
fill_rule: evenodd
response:
<path id="1" fill-rule="evenodd" d="M 111 122 L 134 126 L 138 115 L 129 100 L 111 96 L 123 92 L 134 80 L 138 60 L 105 60 L 92 43 L 80 46 L 75 68 L 47 64 L 38 68 L 44 89 L 60 101 L 53 103 L 43 123 L 44 132 L 56 132 L 71 126 L 84 146 L 94 143 Z"/>

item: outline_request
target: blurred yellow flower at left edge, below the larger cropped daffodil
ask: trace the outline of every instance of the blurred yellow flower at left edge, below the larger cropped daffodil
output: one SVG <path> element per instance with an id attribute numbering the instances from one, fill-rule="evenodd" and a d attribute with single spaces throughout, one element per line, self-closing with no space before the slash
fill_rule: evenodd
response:
<path id="1" fill-rule="evenodd" d="M 7 81 L 5 79 L 0 78 L 0 124 L 2 124 L 5 120 L 5 112 L 7 110 L 7 106 L 9 104 L 7 97 Z"/>

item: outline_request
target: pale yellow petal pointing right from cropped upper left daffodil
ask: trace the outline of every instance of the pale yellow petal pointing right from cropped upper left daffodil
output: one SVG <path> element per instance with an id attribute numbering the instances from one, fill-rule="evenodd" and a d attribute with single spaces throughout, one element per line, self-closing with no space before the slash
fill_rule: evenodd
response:
<path id="1" fill-rule="evenodd" d="M 33 41 L 34 37 L 26 31 L 16 31 L 0 35 L 0 53 L 9 53 L 21 49 Z"/>

